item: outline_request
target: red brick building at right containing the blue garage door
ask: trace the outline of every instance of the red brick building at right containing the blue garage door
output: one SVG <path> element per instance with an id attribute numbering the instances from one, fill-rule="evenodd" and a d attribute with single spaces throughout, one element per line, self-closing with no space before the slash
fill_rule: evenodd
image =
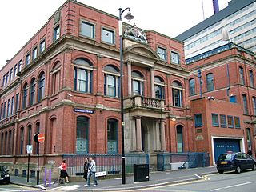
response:
<path id="1" fill-rule="evenodd" d="M 252 150 L 256 141 L 256 59 L 254 53 L 227 43 L 186 60 L 195 150 L 218 154 Z M 201 70 L 201 90 L 198 78 Z"/>

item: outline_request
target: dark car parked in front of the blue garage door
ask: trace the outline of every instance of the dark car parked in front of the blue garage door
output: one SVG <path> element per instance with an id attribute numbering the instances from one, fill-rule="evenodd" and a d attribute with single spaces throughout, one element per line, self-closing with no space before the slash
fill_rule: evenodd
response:
<path id="1" fill-rule="evenodd" d="M 226 170 L 235 170 L 238 174 L 241 170 L 256 170 L 255 159 L 241 152 L 220 154 L 216 164 L 219 174 L 223 174 Z"/>

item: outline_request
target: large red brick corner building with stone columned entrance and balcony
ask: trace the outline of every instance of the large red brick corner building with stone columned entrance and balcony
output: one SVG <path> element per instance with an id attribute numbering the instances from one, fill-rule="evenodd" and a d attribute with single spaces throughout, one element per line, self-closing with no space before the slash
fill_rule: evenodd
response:
<path id="1" fill-rule="evenodd" d="M 38 132 L 46 138 L 40 165 L 58 166 L 62 154 L 121 153 L 120 86 L 126 153 L 148 152 L 155 164 L 159 151 L 194 150 L 183 43 L 123 28 L 123 85 L 118 17 L 72 0 L 6 63 L 0 71 L 0 162 L 24 166 L 26 145 L 33 145 L 30 161 L 36 163 Z"/>

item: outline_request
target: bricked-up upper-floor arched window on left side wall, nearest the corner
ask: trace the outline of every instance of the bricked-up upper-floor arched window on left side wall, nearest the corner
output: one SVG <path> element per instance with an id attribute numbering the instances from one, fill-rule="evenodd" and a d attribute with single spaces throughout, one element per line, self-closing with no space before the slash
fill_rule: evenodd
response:
<path id="1" fill-rule="evenodd" d="M 61 63 L 55 63 L 52 70 L 51 94 L 57 94 L 60 89 Z"/>

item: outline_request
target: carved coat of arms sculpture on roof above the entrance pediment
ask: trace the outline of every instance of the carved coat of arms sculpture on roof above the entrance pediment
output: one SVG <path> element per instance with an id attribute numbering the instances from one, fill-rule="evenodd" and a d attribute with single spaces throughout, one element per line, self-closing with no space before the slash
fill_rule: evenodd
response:
<path id="1" fill-rule="evenodd" d="M 128 26 L 124 32 L 124 37 L 132 38 L 139 42 L 147 43 L 146 34 L 144 30 L 139 29 L 135 24 L 133 26 Z"/>

